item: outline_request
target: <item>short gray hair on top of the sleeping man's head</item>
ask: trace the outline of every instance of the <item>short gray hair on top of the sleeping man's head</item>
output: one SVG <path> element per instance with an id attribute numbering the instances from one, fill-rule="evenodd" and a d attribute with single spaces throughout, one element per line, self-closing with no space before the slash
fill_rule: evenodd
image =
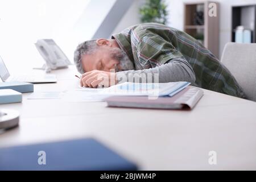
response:
<path id="1" fill-rule="evenodd" d="M 76 64 L 77 71 L 81 74 L 84 73 L 82 69 L 82 55 L 89 55 L 97 49 L 96 39 L 85 41 L 76 47 L 74 52 L 74 63 Z"/>

